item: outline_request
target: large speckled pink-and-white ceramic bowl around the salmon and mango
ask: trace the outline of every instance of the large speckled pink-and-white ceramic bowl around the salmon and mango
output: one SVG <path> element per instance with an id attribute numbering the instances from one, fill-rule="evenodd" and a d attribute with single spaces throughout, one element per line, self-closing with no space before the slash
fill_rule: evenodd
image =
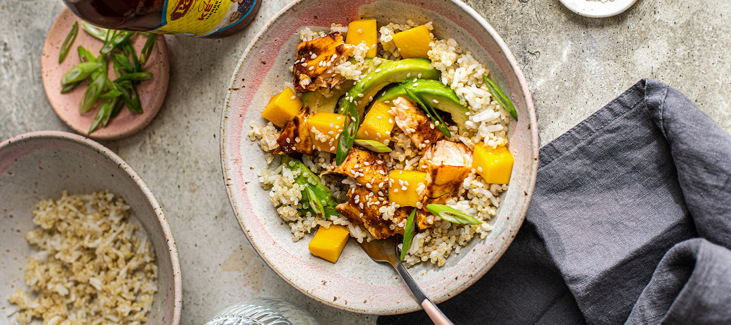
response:
<path id="1" fill-rule="evenodd" d="M 257 173 L 267 165 L 264 152 L 249 140 L 249 124 L 265 124 L 261 112 L 273 94 L 292 83 L 298 31 L 325 31 L 330 23 L 359 18 L 388 22 L 433 21 L 439 39 L 454 38 L 490 68 L 501 89 L 510 93 L 519 122 L 510 124 L 515 157 L 510 190 L 491 223 L 486 239 L 473 239 L 447 264 L 409 269 L 434 302 L 442 302 L 482 277 L 507 249 L 523 223 L 535 184 L 538 162 L 536 116 L 523 73 L 496 31 L 474 10 L 456 0 L 319 0 L 294 1 L 265 26 L 243 53 L 234 72 L 221 118 L 221 165 L 233 210 L 254 249 L 279 276 L 304 294 L 327 305 L 368 314 L 397 314 L 420 309 L 393 269 L 371 261 L 351 239 L 332 264 L 308 251 L 313 234 L 292 242 L 289 226 L 277 216 Z"/>

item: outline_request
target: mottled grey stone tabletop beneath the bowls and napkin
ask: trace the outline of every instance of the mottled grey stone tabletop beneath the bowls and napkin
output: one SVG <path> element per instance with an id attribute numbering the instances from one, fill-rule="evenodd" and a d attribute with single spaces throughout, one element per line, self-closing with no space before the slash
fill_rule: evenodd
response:
<path id="1" fill-rule="evenodd" d="M 137 135 L 105 142 L 162 202 L 183 269 L 181 324 L 203 324 L 227 305 L 278 296 L 322 324 L 374 324 L 375 317 L 321 305 L 280 280 L 251 249 L 228 203 L 219 122 L 232 72 L 249 40 L 287 0 L 265 0 L 257 19 L 224 40 L 166 37 L 170 90 Z M 541 144 L 565 132 L 643 77 L 683 91 L 731 130 L 731 1 L 639 0 L 613 18 L 584 18 L 557 0 L 468 3 L 501 34 L 526 74 Z M 40 53 L 59 1 L 0 0 L 0 139 L 70 131 L 48 104 Z M 724 17 L 725 16 L 725 17 Z"/>

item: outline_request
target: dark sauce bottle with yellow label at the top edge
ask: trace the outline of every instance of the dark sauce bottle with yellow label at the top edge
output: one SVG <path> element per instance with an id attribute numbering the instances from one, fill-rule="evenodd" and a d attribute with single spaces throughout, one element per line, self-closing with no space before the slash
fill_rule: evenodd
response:
<path id="1" fill-rule="evenodd" d="M 262 0 L 64 0 L 69 9 L 106 29 L 192 37 L 227 37 L 256 16 Z"/>

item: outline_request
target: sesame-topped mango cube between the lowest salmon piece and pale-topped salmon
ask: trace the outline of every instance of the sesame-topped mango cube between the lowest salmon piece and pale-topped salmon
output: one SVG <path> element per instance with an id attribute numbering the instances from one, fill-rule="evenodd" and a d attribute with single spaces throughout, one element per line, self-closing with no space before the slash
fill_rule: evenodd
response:
<path id="1" fill-rule="evenodd" d="M 388 174 L 388 201 L 399 206 L 417 206 L 425 193 L 426 173 L 392 171 Z"/>

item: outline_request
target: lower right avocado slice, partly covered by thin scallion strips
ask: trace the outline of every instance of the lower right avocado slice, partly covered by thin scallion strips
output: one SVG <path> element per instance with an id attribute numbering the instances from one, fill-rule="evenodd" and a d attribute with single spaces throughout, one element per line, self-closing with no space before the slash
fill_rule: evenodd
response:
<path id="1" fill-rule="evenodd" d="M 414 89 L 417 94 L 424 97 L 425 100 L 431 102 L 431 105 L 439 111 L 447 112 L 452 115 L 452 121 L 459 127 L 459 133 L 462 135 L 464 132 L 468 132 L 465 127 L 465 122 L 469 119 L 467 112 L 469 108 L 464 107 L 459 102 L 459 98 L 454 90 L 450 87 L 444 86 L 442 81 L 417 79 L 416 82 L 413 80 L 404 81 L 406 86 L 410 86 L 410 89 Z M 379 93 L 379 96 L 375 98 L 379 102 L 386 102 L 395 100 L 398 97 L 404 97 L 407 100 L 414 102 L 401 83 L 394 83 L 390 86 L 385 87 L 383 91 Z M 436 100 L 436 102 L 435 102 Z"/>

